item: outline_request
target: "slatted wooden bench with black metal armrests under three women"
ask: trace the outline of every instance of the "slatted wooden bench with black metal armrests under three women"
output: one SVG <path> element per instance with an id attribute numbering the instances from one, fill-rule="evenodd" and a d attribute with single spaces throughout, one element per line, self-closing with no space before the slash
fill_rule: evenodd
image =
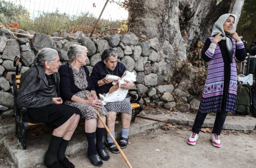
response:
<path id="1" fill-rule="evenodd" d="M 16 126 L 15 136 L 19 140 L 20 145 L 23 147 L 23 150 L 26 150 L 27 149 L 26 140 L 27 140 L 27 134 L 29 131 L 29 126 L 39 125 L 43 123 L 34 124 L 34 123 L 26 122 L 23 120 L 23 115 L 27 113 L 27 108 L 20 107 L 17 105 L 17 95 L 18 95 L 18 90 L 20 85 L 20 75 L 18 73 L 19 56 L 16 56 L 14 59 L 14 67 L 16 67 L 16 74 L 12 74 L 11 79 L 13 83 L 13 93 L 14 93 L 14 96 L 13 96 L 14 97 L 14 117 L 15 117 L 15 126 Z M 136 92 L 136 94 L 133 94 L 131 92 Z M 136 89 L 130 89 L 128 94 L 131 97 L 131 105 L 132 105 L 132 111 L 133 111 L 131 122 L 134 123 L 136 116 L 143 109 L 142 104 L 138 102 L 141 99 L 141 94 Z"/>

